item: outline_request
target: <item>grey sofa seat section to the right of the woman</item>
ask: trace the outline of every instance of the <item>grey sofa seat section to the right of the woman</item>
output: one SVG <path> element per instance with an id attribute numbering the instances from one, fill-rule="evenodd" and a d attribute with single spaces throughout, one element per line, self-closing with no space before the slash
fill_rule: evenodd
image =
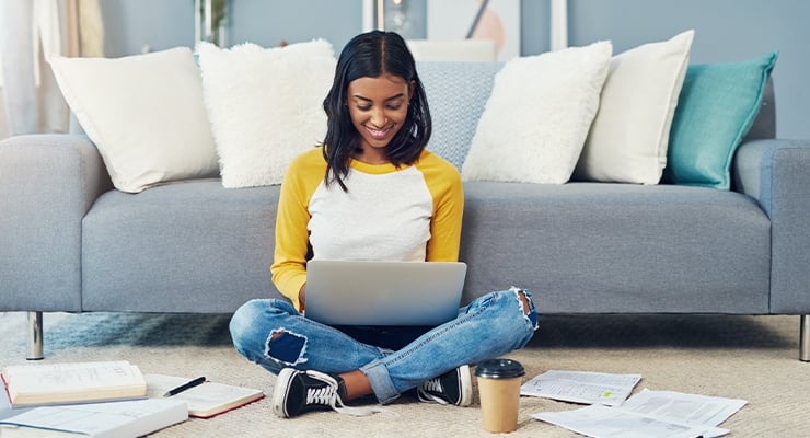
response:
<path id="1" fill-rule="evenodd" d="M 468 182 L 465 301 L 510 285 L 542 313 L 766 313 L 771 230 L 744 195 Z"/>

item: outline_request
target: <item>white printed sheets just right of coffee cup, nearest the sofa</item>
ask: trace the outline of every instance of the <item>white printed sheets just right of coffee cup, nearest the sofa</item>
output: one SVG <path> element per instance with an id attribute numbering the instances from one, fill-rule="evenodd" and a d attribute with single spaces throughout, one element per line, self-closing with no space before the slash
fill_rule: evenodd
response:
<path id="1" fill-rule="evenodd" d="M 640 380 L 640 374 L 549 370 L 523 383 L 520 394 L 617 406 Z"/>

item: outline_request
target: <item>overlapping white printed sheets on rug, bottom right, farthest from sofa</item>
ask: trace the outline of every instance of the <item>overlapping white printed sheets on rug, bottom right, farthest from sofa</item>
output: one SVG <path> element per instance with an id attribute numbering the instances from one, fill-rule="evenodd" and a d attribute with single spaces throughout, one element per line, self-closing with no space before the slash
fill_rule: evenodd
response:
<path id="1" fill-rule="evenodd" d="M 645 389 L 618 407 L 592 405 L 532 416 L 594 438 L 714 438 L 729 433 L 717 426 L 745 403 L 739 399 Z"/>

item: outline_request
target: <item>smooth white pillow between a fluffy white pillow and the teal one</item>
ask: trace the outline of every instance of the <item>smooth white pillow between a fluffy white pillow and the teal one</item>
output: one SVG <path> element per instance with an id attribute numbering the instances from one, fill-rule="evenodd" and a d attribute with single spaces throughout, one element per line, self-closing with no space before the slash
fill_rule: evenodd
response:
<path id="1" fill-rule="evenodd" d="M 616 55 L 575 178 L 658 184 L 694 31 Z"/>

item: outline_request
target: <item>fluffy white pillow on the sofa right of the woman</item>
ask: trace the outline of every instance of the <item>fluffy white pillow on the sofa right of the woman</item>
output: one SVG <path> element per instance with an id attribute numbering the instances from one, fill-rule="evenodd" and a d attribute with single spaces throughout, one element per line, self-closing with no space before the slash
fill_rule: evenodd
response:
<path id="1" fill-rule="evenodd" d="M 462 166 L 465 181 L 567 182 L 599 107 L 610 42 L 516 58 L 493 93 Z"/>

